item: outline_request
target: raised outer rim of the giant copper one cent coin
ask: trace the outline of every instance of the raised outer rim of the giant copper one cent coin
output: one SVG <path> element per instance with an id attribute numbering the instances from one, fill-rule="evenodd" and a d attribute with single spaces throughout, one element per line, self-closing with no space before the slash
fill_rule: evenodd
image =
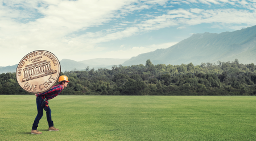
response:
<path id="1" fill-rule="evenodd" d="M 44 51 L 44 52 L 49 52 L 49 51 L 46 51 L 46 50 L 36 50 L 36 51 L 32 51 L 32 52 L 40 52 L 40 51 Z M 32 52 L 30 52 L 30 53 L 32 53 Z M 27 55 L 29 55 L 30 53 L 27 53 Z M 49 52 L 49 53 L 51 53 L 52 55 L 54 55 L 55 56 L 55 54 L 53 54 L 52 52 Z M 27 56 L 27 55 L 25 55 L 20 61 L 19 61 L 19 64 L 23 61 L 23 59 Z M 56 56 L 55 56 L 56 57 Z M 60 61 L 59 61 L 59 59 L 57 59 L 57 57 L 56 57 L 56 60 L 58 61 L 58 63 L 59 63 L 59 66 L 60 66 L 60 71 L 58 72 L 58 77 L 60 76 L 60 72 L 61 72 L 61 65 L 60 65 Z M 17 77 L 17 71 L 18 71 L 18 68 L 19 68 L 19 64 L 18 64 L 18 66 L 17 66 L 17 68 L 16 68 L 16 81 L 18 82 L 18 84 L 19 84 L 19 80 L 18 80 L 18 77 Z M 57 80 L 58 79 L 56 79 L 56 80 L 54 80 L 53 81 L 53 84 L 55 84 L 56 82 L 57 82 Z M 19 86 L 20 86 L 20 84 L 19 84 Z M 22 86 L 20 86 L 21 88 L 22 88 Z M 49 90 L 49 89 L 51 89 L 52 87 L 49 87 L 49 88 L 47 88 L 46 90 L 43 90 L 42 92 L 39 92 L 39 93 L 43 93 L 43 92 L 46 92 L 47 90 Z M 23 89 L 23 88 L 22 88 Z M 32 93 L 32 92 L 29 92 L 28 90 L 26 90 L 26 89 L 23 89 L 23 90 L 25 90 L 26 92 L 28 92 L 28 93 Z"/>

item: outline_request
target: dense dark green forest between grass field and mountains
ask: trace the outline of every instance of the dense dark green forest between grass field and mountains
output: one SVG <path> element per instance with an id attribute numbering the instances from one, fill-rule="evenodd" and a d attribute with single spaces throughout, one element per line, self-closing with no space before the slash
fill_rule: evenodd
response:
<path id="1" fill-rule="evenodd" d="M 254 96 L 256 66 L 234 61 L 181 65 L 113 65 L 61 72 L 70 81 L 61 95 Z M 56 83 L 57 85 L 58 83 Z M 16 81 L 15 72 L 0 74 L 0 94 L 32 94 Z"/>

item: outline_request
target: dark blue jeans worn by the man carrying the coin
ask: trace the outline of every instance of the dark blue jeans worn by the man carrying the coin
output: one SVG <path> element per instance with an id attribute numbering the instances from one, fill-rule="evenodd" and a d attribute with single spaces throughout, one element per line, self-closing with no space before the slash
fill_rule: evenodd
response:
<path id="1" fill-rule="evenodd" d="M 36 130 L 38 128 L 38 123 L 40 119 L 43 117 L 44 114 L 44 109 L 41 106 L 41 103 L 44 101 L 42 97 L 36 97 L 36 106 L 38 107 L 38 115 L 36 115 L 35 121 L 32 126 L 32 130 Z M 48 107 L 46 111 L 46 117 L 48 121 L 49 127 L 53 126 L 53 121 L 52 121 L 52 115 L 51 115 L 51 109 Z"/>

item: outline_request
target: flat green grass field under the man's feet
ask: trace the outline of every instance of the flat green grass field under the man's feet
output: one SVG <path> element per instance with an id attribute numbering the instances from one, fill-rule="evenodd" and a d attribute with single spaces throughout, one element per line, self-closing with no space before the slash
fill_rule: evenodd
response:
<path id="1" fill-rule="evenodd" d="M 57 96 L 42 135 L 35 99 L 0 95 L 0 140 L 256 140 L 256 97 Z"/>

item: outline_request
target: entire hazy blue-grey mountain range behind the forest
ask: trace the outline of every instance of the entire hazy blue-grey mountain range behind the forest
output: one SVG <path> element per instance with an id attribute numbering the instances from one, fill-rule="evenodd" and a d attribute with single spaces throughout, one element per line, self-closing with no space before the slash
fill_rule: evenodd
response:
<path id="1" fill-rule="evenodd" d="M 63 59 L 60 61 L 61 71 L 108 68 L 113 65 L 123 66 L 146 64 L 150 59 L 152 64 L 189 64 L 216 63 L 220 61 L 234 61 L 238 59 L 243 64 L 256 64 L 256 26 L 243 28 L 233 32 L 212 34 L 193 34 L 187 39 L 166 49 L 143 53 L 131 59 L 90 59 L 74 61 Z M 15 72 L 16 65 L 0 67 L 0 73 Z"/>

